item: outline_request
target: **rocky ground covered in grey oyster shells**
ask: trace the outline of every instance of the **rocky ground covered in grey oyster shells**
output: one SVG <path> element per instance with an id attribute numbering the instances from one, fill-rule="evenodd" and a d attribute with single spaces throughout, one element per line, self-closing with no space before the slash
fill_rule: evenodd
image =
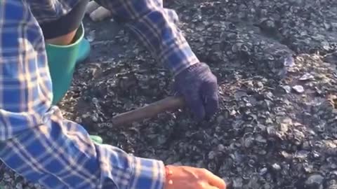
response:
<path id="1" fill-rule="evenodd" d="M 172 76 L 113 20 L 85 20 L 91 57 L 60 106 L 105 144 L 206 167 L 229 188 L 337 188 L 337 1 L 170 0 L 218 76 L 220 110 L 112 127 L 117 113 L 171 95 Z M 6 188 L 39 188 L 1 169 Z"/>

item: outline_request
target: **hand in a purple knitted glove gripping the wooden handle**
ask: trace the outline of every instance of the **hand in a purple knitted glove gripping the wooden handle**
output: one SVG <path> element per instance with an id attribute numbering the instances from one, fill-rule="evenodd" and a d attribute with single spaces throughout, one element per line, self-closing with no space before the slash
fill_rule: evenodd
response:
<path id="1" fill-rule="evenodd" d="M 218 80 L 207 64 L 200 62 L 178 73 L 174 89 L 185 97 L 197 121 L 218 111 Z"/>

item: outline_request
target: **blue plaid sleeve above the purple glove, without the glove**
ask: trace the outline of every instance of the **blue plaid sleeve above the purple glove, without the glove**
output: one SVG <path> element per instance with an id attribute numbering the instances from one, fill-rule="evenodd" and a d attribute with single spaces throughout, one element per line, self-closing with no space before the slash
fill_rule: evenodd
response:
<path id="1" fill-rule="evenodd" d="M 112 17 L 126 24 L 147 50 L 173 73 L 199 62 L 176 26 L 178 15 L 163 8 L 162 0 L 95 0 Z"/>

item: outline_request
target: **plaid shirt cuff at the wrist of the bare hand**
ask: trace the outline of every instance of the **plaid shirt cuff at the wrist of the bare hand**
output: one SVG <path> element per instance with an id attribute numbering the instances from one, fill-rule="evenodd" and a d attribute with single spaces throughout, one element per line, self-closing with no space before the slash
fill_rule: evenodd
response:
<path id="1" fill-rule="evenodd" d="M 133 158 L 133 179 L 129 188 L 163 189 L 165 183 L 164 162 L 147 158 Z"/>

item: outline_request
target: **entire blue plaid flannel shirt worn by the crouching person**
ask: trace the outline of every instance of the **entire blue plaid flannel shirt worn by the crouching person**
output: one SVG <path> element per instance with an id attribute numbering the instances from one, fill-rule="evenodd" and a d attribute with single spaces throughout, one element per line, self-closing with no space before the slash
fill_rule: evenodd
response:
<path id="1" fill-rule="evenodd" d="M 94 144 L 51 106 L 52 85 L 39 23 L 80 0 L 0 1 L 0 159 L 46 188 L 164 188 L 164 163 Z M 174 72 L 199 62 L 161 0 L 99 1 Z"/>

